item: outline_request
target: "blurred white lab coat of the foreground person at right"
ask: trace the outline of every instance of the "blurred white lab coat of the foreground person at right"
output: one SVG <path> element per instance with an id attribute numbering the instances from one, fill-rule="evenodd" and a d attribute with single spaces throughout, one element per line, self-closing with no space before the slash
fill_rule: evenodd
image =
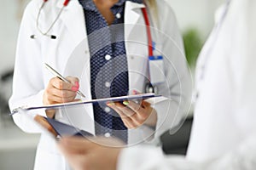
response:
<path id="1" fill-rule="evenodd" d="M 119 169 L 255 169 L 255 8 L 253 0 L 231 1 L 218 33 L 212 32 L 201 52 L 187 157 L 162 156 L 155 148 L 125 149 Z"/>

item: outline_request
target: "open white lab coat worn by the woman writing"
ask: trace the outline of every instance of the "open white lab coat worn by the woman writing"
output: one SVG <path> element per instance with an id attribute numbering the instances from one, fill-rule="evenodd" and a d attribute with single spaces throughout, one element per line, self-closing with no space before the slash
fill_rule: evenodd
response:
<path id="1" fill-rule="evenodd" d="M 44 88 L 52 75 L 44 69 L 44 62 L 52 65 L 65 76 L 80 78 L 80 90 L 87 99 L 90 94 L 90 51 L 84 23 L 84 11 L 77 0 L 71 0 L 63 9 L 60 19 L 49 34 L 57 39 L 51 40 L 42 36 L 36 28 L 38 10 L 42 0 L 32 0 L 28 4 L 20 26 L 20 34 L 15 60 L 15 75 L 13 95 L 9 100 L 10 109 L 22 105 L 43 105 Z M 39 26 L 47 30 L 62 7 L 62 0 L 48 1 L 40 15 Z M 137 144 L 146 139 L 157 142 L 158 137 L 166 129 L 177 125 L 184 113 L 189 110 L 189 95 L 191 82 L 189 71 L 183 57 L 183 41 L 177 28 L 176 19 L 172 10 L 164 2 L 157 1 L 158 17 L 154 20 L 159 32 L 152 29 L 156 49 L 165 57 L 166 82 L 158 86 L 159 94 L 171 100 L 154 105 L 158 112 L 158 122 L 155 132 L 151 127 L 142 126 L 130 130 L 129 144 Z M 148 75 L 147 60 L 148 46 L 145 31 L 143 4 L 127 2 L 125 5 L 125 48 L 129 69 L 129 88 L 144 91 L 145 78 Z M 36 35 L 36 39 L 31 39 Z M 84 40 L 85 38 L 85 40 Z M 83 48 L 81 48 L 83 47 Z M 75 51 L 74 51 L 75 50 Z M 76 56 L 79 63 L 73 62 Z M 167 62 L 168 61 L 168 62 Z M 86 66 L 81 67 L 81 63 Z M 90 63 L 90 62 L 89 62 Z M 75 68 L 74 68 L 75 67 Z M 81 68 L 84 72 L 81 76 Z M 31 111 L 30 114 L 45 116 L 44 111 Z M 42 133 L 38 127 L 33 126 L 26 117 L 16 114 L 16 125 L 27 133 Z M 94 118 L 91 105 L 80 109 L 67 109 L 58 111 L 55 119 L 73 124 L 73 126 L 94 133 Z M 150 138 L 149 138 L 150 137 Z M 153 139 L 152 139 L 153 138 Z M 64 158 L 55 147 L 55 141 L 42 133 L 38 144 L 35 169 L 65 169 L 68 166 Z"/>

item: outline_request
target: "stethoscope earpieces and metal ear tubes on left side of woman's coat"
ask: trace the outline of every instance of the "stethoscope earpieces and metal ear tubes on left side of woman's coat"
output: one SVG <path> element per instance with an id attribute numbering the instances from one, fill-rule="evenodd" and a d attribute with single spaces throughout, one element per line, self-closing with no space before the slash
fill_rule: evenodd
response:
<path id="1" fill-rule="evenodd" d="M 42 9 L 44 8 L 44 5 L 45 3 L 47 3 L 48 0 L 44 0 L 41 7 L 39 8 L 39 11 L 38 11 L 38 16 L 37 16 L 37 29 L 38 31 L 43 35 L 43 36 L 46 36 L 46 37 L 49 37 L 51 39 L 56 39 L 57 37 L 55 35 L 49 35 L 49 31 L 52 29 L 53 26 L 55 26 L 55 23 L 57 20 L 59 20 L 60 16 L 61 16 L 61 13 L 63 11 L 63 8 L 67 7 L 67 4 L 69 3 L 70 0 L 65 0 L 65 2 L 63 3 L 63 6 L 60 10 L 60 12 L 57 14 L 55 20 L 53 21 L 53 23 L 49 26 L 48 30 L 47 31 L 42 31 L 42 29 L 39 27 L 39 18 L 40 18 L 40 14 L 41 14 L 41 11 Z M 36 39 L 36 35 L 31 35 L 31 38 L 32 39 Z"/>

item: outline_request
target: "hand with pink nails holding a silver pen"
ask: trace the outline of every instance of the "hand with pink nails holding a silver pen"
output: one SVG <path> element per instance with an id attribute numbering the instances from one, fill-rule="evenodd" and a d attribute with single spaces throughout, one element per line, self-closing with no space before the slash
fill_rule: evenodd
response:
<path id="1" fill-rule="evenodd" d="M 55 77 L 49 80 L 49 84 L 44 90 L 44 105 L 72 102 L 76 94 L 85 97 L 79 91 L 79 79 L 77 77 L 62 77 L 49 65 L 45 64 L 45 67 Z"/>

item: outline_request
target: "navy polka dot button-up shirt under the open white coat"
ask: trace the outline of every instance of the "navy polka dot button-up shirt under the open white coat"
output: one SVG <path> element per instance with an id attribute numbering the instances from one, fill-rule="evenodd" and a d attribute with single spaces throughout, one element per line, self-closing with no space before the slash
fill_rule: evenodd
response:
<path id="1" fill-rule="evenodd" d="M 126 0 L 127 1 L 127 0 Z M 143 3 L 143 0 L 130 0 Z M 112 8 L 115 16 L 112 26 L 96 8 L 92 0 L 79 0 L 84 8 L 86 31 L 90 48 L 90 84 L 92 99 L 127 95 L 129 91 L 128 66 L 124 42 L 125 0 Z M 107 57 L 106 55 L 111 56 Z M 110 86 L 109 86 L 110 85 Z M 94 105 L 96 134 L 111 134 L 127 142 L 127 128 L 119 115 L 106 105 Z"/>

